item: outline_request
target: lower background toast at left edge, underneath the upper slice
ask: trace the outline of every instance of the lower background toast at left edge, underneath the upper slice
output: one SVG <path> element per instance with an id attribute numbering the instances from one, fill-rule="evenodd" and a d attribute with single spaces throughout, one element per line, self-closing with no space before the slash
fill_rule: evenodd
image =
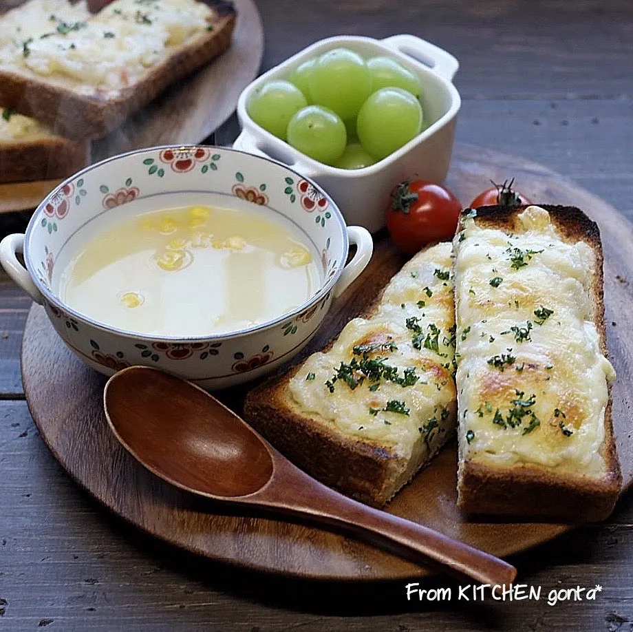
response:
<path id="1" fill-rule="evenodd" d="M 0 184 L 67 178 L 89 159 L 89 141 L 56 136 L 33 118 L 0 107 Z"/>

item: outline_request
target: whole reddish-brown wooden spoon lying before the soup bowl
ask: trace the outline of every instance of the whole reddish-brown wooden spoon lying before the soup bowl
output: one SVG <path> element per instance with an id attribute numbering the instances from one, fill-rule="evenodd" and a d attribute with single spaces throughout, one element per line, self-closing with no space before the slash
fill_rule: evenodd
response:
<path id="1" fill-rule="evenodd" d="M 103 400 L 108 423 L 130 454 L 187 492 L 335 525 L 483 584 L 509 584 L 516 576 L 516 569 L 499 558 L 315 481 L 191 382 L 133 366 L 109 379 Z"/>

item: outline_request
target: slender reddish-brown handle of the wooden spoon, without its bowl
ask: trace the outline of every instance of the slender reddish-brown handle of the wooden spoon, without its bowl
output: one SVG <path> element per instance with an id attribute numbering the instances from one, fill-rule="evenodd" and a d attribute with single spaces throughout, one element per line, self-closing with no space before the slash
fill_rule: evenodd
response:
<path id="1" fill-rule="evenodd" d="M 451 574 L 482 584 L 510 584 L 517 574 L 515 567 L 500 558 L 343 496 L 283 457 L 275 458 L 270 482 L 250 496 L 250 502 L 341 527 L 381 549 L 418 562 L 438 562 Z"/>

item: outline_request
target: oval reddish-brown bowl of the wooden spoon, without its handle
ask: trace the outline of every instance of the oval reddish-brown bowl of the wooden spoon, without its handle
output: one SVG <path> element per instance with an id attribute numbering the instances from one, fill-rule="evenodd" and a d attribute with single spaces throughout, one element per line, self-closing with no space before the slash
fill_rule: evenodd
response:
<path id="1" fill-rule="evenodd" d="M 272 456 L 261 438 L 193 384 L 131 367 L 109 379 L 104 403 L 120 443 L 172 485 L 211 498 L 234 498 L 270 481 Z"/>

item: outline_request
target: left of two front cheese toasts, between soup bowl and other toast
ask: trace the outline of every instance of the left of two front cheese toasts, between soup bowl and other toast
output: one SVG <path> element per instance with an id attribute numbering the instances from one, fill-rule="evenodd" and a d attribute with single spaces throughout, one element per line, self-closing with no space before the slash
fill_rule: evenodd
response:
<path id="1" fill-rule="evenodd" d="M 326 350 L 246 397 L 246 421 L 272 445 L 363 503 L 385 505 L 454 433 L 451 251 L 442 243 L 418 253 Z M 361 380 L 357 369 L 345 381 L 339 369 L 363 359 L 396 367 L 396 380 L 409 369 L 415 383 Z M 389 401 L 400 412 L 384 410 Z"/>

